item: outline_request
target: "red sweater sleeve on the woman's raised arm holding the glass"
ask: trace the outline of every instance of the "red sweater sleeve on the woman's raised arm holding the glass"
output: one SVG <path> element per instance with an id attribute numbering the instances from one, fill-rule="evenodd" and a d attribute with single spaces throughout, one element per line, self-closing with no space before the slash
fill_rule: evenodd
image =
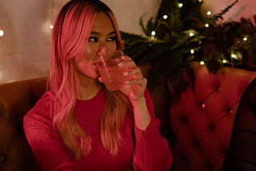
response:
<path id="1" fill-rule="evenodd" d="M 150 93 L 146 90 L 146 105 L 151 114 L 150 125 L 146 130 L 134 128 L 135 149 L 134 149 L 134 170 L 158 171 L 170 170 L 173 157 L 170 147 L 165 138 L 160 135 L 160 121 L 154 117 L 154 105 Z"/>

